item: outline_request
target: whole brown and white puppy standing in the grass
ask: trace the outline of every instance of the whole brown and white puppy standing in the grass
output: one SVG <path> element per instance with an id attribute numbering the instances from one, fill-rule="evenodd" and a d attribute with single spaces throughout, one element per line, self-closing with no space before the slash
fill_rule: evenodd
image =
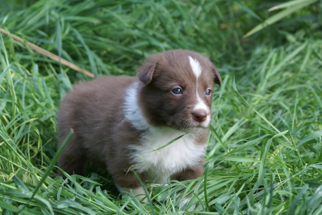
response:
<path id="1" fill-rule="evenodd" d="M 150 56 L 137 78 L 75 85 L 58 113 L 59 145 L 74 131 L 58 166 L 83 174 L 86 161 L 103 164 L 120 191 L 135 195 L 144 188 L 131 170 L 150 183 L 201 176 L 215 83 L 221 78 L 207 57 L 171 50 Z"/>

